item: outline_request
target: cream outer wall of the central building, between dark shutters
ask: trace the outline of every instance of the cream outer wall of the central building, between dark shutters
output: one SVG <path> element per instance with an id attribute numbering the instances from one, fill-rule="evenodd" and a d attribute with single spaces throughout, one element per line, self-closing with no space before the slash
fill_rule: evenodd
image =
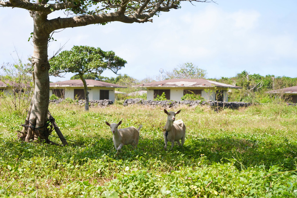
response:
<path id="1" fill-rule="evenodd" d="M 154 89 L 170 89 L 170 100 L 181 100 L 181 97 L 184 95 L 184 89 L 195 89 L 195 87 L 172 87 L 172 88 L 159 88 L 159 87 L 150 87 L 147 89 L 147 100 L 154 100 Z M 205 100 L 216 100 L 216 91 L 214 88 L 208 88 L 209 91 L 205 91 L 202 88 L 196 88 L 201 90 L 201 96 Z M 228 102 L 228 92 L 227 89 L 223 89 L 223 98 L 224 101 Z"/>

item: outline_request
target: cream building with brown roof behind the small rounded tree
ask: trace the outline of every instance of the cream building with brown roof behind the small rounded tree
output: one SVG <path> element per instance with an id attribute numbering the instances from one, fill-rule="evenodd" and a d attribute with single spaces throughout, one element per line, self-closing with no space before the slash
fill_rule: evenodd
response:
<path id="1" fill-rule="evenodd" d="M 115 100 L 115 88 L 127 88 L 112 83 L 86 80 L 89 100 Z M 85 99 L 82 80 L 68 80 L 50 83 L 50 96 L 55 94 L 59 98 Z"/>

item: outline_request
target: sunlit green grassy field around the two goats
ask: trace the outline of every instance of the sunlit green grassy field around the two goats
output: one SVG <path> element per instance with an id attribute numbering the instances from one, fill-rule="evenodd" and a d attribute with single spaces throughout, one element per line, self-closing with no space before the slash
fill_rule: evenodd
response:
<path id="1" fill-rule="evenodd" d="M 49 109 L 69 147 L 18 142 L 23 117 L 1 110 L 0 197 L 297 197 L 296 106 L 182 106 L 186 141 L 173 150 L 163 149 L 160 107 Z M 116 154 L 104 121 L 120 120 L 143 128 L 136 150 Z"/>

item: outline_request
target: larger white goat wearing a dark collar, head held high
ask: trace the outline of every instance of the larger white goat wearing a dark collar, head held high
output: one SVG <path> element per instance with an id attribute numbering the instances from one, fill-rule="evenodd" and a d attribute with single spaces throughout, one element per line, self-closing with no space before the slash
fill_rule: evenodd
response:
<path id="1" fill-rule="evenodd" d="M 165 140 L 165 147 L 167 149 L 167 142 L 171 142 L 171 149 L 174 147 L 174 142 L 181 147 L 183 147 L 186 137 L 186 126 L 182 120 L 175 120 L 175 115 L 179 114 L 181 110 L 176 112 L 174 111 L 167 111 L 164 109 L 165 114 L 167 114 L 167 122 L 165 127 L 163 128 L 163 136 Z M 181 139 L 181 143 L 179 140 Z"/>

